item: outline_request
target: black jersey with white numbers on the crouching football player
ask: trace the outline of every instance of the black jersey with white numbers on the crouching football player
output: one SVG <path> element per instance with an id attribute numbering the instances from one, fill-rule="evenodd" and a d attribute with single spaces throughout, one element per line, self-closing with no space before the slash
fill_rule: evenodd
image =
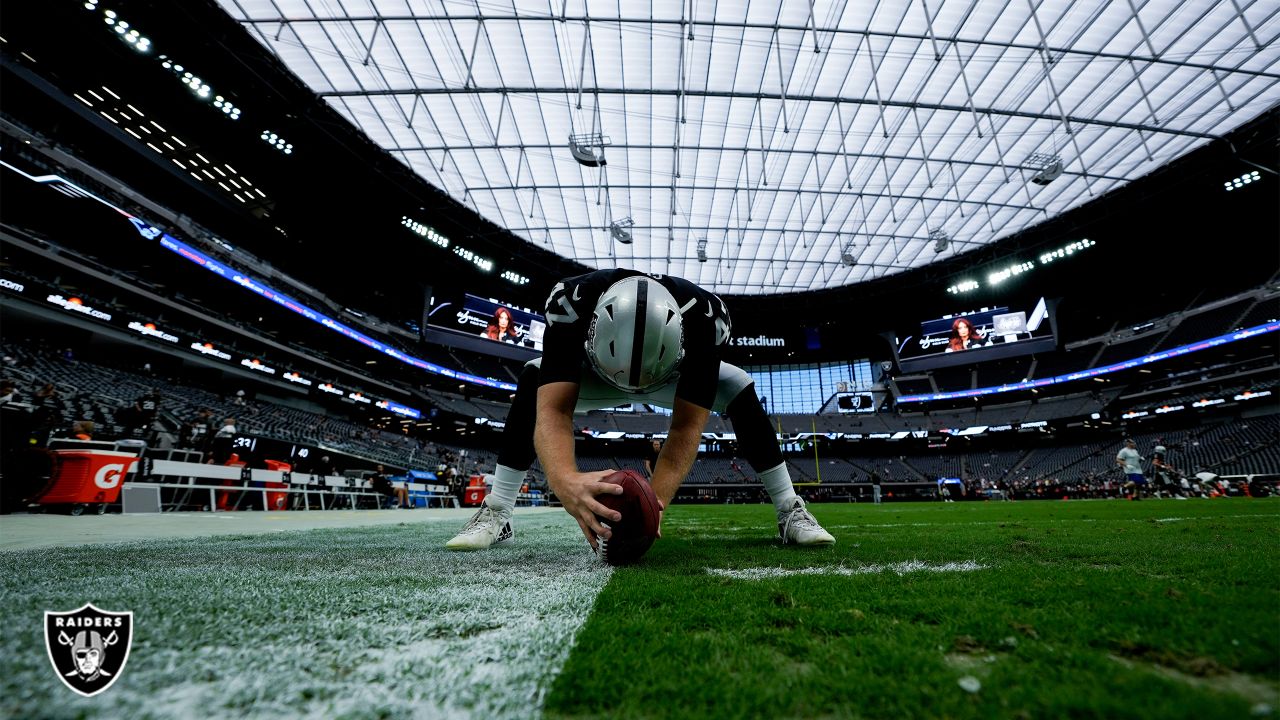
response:
<path id="1" fill-rule="evenodd" d="M 579 383 L 584 372 L 593 372 L 586 356 L 586 331 L 595 304 L 613 283 L 643 274 L 625 269 L 595 270 L 567 278 L 552 288 L 545 310 L 541 384 Z M 649 277 L 667 288 L 680 305 L 685 359 L 676 369 L 676 397 L 710 409 L 719 380 L 721 350 L 728 345 L 732 331 L 728 309 L 718 295 L 686 279 Z"/>

